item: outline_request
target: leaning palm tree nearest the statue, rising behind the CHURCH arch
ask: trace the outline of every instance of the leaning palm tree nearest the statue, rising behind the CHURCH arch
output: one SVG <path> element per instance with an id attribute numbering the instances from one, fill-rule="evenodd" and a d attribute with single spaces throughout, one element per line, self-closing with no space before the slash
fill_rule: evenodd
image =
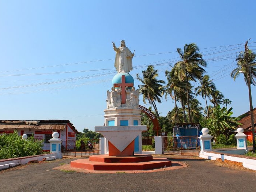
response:
<path id="1" fill-rule="evenodd" d="M 158 73 L 154 69 L 153 65 L 149 65 L 146 71 L 142 71 L 143 79 L 137 74 L 137 79 L 143 83 L 139 85 L 139 91 L 143 95 L 143 102 L 146 104 L 146 100 L 153 106 L 155 113 L 159 120 L 159 113 L 155 102 L 161 103 L 162 92 L 164 91 L 164 80 L 157 80 Z"/>

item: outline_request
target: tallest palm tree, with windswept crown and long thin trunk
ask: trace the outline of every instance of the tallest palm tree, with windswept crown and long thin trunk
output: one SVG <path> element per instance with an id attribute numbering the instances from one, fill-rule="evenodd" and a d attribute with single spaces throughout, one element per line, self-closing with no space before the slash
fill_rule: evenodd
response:
<path id="1" fill-rule="evenodd" d="M 185 44 L 184 49 L 177 48 L 177 52 L 180 55 L 182 61 L 178 61 L 174 66 L 177 67 L 178 78 L 187 83 L 187 104 L 188 104 L 188 117 L 191 123 L 191 115 L 189 109 L 189 95 L 188 95 L 188 80 L 196 81 L 201 79 L 202 74 L 206 72 L 202 67 L 206 67 L 206 61 L 203 60 L 203 56 L 199 53 L 199 48 L 196 44 Z"/>

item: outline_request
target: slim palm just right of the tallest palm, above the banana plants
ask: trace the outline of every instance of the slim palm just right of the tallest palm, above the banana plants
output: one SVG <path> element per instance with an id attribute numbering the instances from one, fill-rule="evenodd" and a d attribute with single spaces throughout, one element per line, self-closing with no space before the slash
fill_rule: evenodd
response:
<path id="1" fill-rule="evenodd" d="M 195 88 L 196 95 L 202 95 L 202 97 L 205 99 L 206 102 L 206 109 L 207 109 L 207 117 L 209 117 L 209 109 L 207 105 L 207 99 L 210 99 L 210 95 L 212 91 L 216 90 L 215 84 L 212 82 L 212 80 L 209 80 L 209 75 L 204 75 L 203 79 L 200 80 L 201 86 L 198 86 Z"/>

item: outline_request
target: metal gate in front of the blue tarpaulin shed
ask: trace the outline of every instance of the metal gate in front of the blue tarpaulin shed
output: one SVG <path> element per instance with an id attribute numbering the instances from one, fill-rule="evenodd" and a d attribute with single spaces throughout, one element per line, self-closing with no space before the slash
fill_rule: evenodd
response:
<path id="1" fill-rule="evenodd" d="M 200 140 L 198 136 L 162 137 L 163 154 L 199 155 Z"/>

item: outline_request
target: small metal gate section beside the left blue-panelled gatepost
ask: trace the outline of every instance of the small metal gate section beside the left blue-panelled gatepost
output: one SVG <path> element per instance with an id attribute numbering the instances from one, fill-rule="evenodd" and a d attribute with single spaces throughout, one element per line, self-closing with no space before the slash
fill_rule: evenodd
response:
<path id="1" fill-rule="evenodd" d="M 75 140 L 61 140 L 61 158 L 76 157 L 76 141 Z"/>

